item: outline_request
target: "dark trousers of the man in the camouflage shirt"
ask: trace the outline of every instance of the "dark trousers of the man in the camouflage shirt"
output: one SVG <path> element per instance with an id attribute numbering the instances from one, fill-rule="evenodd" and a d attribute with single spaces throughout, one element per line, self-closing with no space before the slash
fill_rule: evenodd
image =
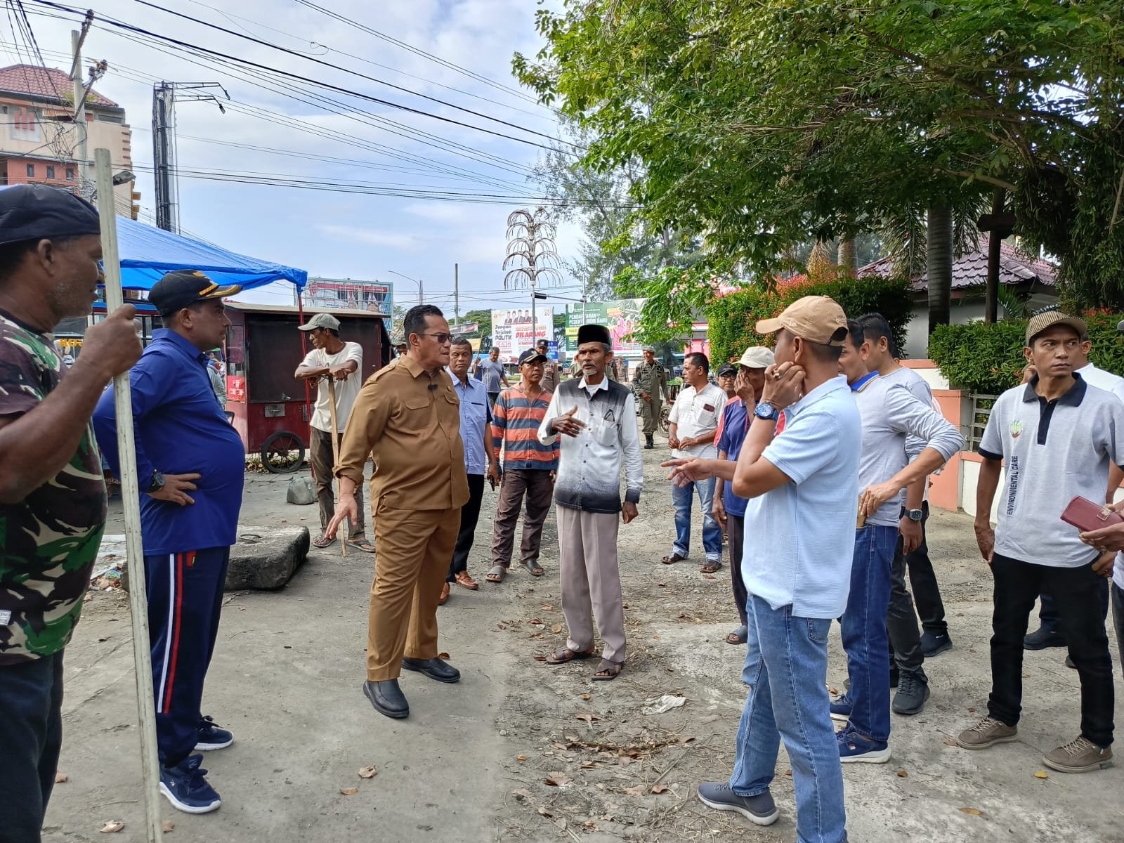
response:
<path id="1" fill-rule="evenodd" d="M 63 654 L 0 668 L 0 840 L 39 843 L 63 744 Z"/>

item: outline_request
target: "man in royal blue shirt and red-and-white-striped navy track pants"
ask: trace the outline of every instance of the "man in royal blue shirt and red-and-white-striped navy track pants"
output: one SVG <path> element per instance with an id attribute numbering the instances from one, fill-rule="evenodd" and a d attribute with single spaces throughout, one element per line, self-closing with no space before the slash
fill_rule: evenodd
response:
<path id="1" fill-rule="evenodd" d="M 194 750 L 234 737 L 200 710 L 215 651 L 223 584 L 236 541 L 245 451 L 211 389 L 206 351 L 230 324 L 219 287 L 200 272 L 170 272 L 148 300 L 164 329 L 129 373 L 140 484 L 161 792 L 180 810 L 205 814 L 219 796 Z M 114 392 L 93 414 L 98 443 L 120 477 Z"/>

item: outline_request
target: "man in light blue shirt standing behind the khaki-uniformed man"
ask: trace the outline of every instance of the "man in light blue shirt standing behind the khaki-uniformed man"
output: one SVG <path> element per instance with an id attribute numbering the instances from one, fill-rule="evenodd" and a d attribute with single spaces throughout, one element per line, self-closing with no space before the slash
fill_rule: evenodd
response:
<path id="1" fill-rule="evenodd" d="M 469 475 L 469 502 L 461 507 L 461 529 L 456 534 L 453 562 L 441 589 L 438 606 L 448 599 L 448 584 L 475 591 L 480 586 L 469 574 L 469 553 L 480 520 L 480 502 L 484 497 L 484 469 L 492 488 L 499 482 L 499 463 L 491 447 L 491 405 L 488 390 L 474 378 L 469 378 L 472 363 L 472 344 L 464 337 L 454 339 L 448 348 L 448 373 L 453 391 L 461 399 L 461 439 L 464 442 L 464 470 Z"/>

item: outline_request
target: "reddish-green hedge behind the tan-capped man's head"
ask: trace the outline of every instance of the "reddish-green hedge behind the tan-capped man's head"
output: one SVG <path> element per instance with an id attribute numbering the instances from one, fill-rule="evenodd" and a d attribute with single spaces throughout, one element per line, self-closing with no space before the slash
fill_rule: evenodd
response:
<path id="1" fill-rule="evenodd" d="M 906 326 L 913 317 L 913 290 L 906 279 L 842 277 L 839 279 L 765 285 L 715 299 L 707 307 L 707 338 L 710 341 L 710 363 L 717 368 L 731 357 L 735 360 L 751 345 L 772 345 L 753 328 L 758 319 L 769 319 L 804 296 L 831 296 L 851 318 L 877 312 L 886 317 L 899 346 L 905 345 Z"/>

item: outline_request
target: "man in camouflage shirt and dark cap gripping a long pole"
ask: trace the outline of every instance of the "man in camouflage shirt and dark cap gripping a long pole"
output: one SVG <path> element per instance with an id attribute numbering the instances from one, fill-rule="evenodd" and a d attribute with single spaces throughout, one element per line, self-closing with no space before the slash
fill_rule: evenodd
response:
<path id="1" fill-rule="evenodd" d="M 106 526 L 90 415 L 140 356 L 126 305 L 73 368 L 51 332 L 100 280 L 98 214 L 46 184 L 0 190 L 0 839 L 39 843 L 62 746 L 63 649 Z"/>

